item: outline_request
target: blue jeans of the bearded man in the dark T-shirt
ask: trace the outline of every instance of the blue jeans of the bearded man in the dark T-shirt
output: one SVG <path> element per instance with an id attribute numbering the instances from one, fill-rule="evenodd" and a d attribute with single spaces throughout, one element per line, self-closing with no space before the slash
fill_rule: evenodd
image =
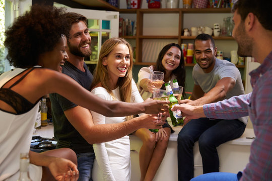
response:
<path id="1" fill-rule="evenodd" d="M 78 158 L 78 170 L 80 172 L 80 177 L 78 181 L 93 181 L 92 179 L 92 169 L 95 159 L 95 154 L 89 153 L 79 153 Z"/>

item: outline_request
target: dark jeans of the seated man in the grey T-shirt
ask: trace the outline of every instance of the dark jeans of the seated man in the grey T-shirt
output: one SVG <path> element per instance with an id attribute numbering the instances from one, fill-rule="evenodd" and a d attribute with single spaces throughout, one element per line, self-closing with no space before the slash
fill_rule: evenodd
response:
<path id="1" fill-rule="evenodd" d="M 217 147 L 239 138 L 246 125 L 235 120 L 210 120 L 199 118 L 189 121 L 178 134 L 178 180 L 188 181 L 193 177 L 193 146 L 198 140 L 202 157 L 203 173 L 219 171 Z"/>

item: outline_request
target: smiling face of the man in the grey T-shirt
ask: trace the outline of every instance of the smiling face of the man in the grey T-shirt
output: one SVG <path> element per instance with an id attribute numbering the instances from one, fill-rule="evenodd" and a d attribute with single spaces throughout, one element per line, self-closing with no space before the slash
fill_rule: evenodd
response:
<path id="1" fill-rule="evenodd" d="M 214 68 L 216 52 L 217 48 L 213 48 L 213 43 L 210 39 L 196 40 L 194 42 L 195 60 L 206 73 L 211 72 Z"/>

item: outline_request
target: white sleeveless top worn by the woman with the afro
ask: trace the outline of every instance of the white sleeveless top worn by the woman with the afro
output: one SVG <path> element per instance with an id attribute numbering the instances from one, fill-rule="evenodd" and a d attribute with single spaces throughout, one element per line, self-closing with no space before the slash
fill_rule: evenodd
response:
<path id="1" fill-rule="evenodd" d="M 0 88 L 26 69 L 16 68 L 0 76 Z M 0 180 L 19 178 L 20 153 L 29 152 L 39 104 L 24 114 L 13 114 L 0 109 Z M 41 180 L 42 167 L 29 165 L 32 180 Z"/>

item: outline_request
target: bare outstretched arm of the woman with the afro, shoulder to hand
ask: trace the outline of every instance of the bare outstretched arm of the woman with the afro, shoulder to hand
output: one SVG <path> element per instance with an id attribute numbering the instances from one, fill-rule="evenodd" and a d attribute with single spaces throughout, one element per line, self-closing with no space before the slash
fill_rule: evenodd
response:
<path id="1" fill-rule="evenodd" d="M 103 114 L 107 117 L 129 116 L 139 113 L 156 114 L 164 112 L 168 109 L 165 106 L 169 101 L 147 100 L 144 103 L 124 103 L 119 101 L 105 101 L 79 85 L 71 77 L 56 71 L 44 69 L 35 77 L 41 77 L 36 80 L 36 93 L 43 96 L 48 93 L 58 93 L 77 105 L 81 105 L 87 109 Z M 32 86 L 33 87 L 33 86 Z M 34 90 L 32 91 L 34 92 Z M 36 100 L 39 97 L 36 97 Z M 35 100 L 35 101 L 36 101 Z M 35 102 L 33 100 L 33 102 Z"/>

